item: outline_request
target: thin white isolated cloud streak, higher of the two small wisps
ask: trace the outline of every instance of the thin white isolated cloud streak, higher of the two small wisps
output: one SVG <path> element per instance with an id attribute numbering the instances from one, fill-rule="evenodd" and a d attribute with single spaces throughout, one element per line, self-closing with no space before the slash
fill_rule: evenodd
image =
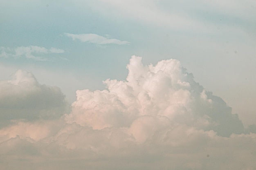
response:
<path id="1" fill-rule="evenodd" d="M 106 44 L 130 44 L 128 41 L 121 41 L 117 39 L 109 39 L 107 37 L 103 37 L 97 34 L 71 34 L 71 33 L 64 33 L 65 36 L 72 38 L 72 40 L 80 40 L 81 42 L 88 42 L 92 44 L 98 45 L 106 45 Z"/>

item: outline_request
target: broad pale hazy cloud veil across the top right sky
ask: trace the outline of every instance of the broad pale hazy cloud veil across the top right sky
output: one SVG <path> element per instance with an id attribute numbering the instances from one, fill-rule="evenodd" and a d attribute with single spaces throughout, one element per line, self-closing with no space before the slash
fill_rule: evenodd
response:
<path id="1" fill-rule="evenodd" d="M 248 29 L 253 31 L 252 16 L 256 14 L 255 2 L 252 0 L 98 0 L 82 3 L 88 4 L 105 17 L 118 15 L 123 19 L 153 26 L 201 34 L 219 33 L 218 28 L 224 33 L 236 35 L 245 33 Z"/>

